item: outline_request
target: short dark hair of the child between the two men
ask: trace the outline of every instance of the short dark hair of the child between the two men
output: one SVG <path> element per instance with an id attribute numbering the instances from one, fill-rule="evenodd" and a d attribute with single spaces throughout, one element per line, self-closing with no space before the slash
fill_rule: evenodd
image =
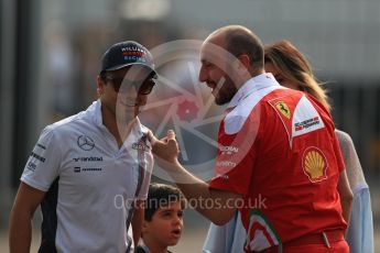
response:
<path id="1" fill-rule="evenodd" d="M 184 209 L 186 200 L 178 188 L 165 184 L 151 184 L 145 200 L 145 221 L 151 221 L 159 208 L 167 207 L 169 204 L 177 201 L 181 202 L 181 207 Z"/>

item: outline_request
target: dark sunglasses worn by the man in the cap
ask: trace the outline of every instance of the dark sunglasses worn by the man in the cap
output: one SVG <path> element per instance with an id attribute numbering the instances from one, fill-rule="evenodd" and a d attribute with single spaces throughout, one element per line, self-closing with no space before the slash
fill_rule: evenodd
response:
<path id="1" fill-rule="evenodd" d="M 123 77 L 113 77 L 109 75 L 104 76 L 104 79 L 112 82 L 116 92 L 127 92 L 128 89 L 134 87 L 140 95 L 149 95 L 152 92 L 156 81 L 156 79 L 152 77 L 148 77 L 144 80 L 128 80 Z"/>

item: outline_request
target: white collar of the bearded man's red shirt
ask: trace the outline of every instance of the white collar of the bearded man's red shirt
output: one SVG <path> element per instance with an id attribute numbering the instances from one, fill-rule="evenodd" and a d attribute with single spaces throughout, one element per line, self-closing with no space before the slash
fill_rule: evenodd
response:
<path id="1" fill-rule="evenodd" d="M 238 92 L 236 92 L 236 95 L 232 97 L 227 108 L 234 108 L 238 106 L 240 101 L 248 95 L 271 86 L 280 86 L 271 73 L 264 73 L 260 74 L 259 76 L 252 77 L 239 88 Z"/>

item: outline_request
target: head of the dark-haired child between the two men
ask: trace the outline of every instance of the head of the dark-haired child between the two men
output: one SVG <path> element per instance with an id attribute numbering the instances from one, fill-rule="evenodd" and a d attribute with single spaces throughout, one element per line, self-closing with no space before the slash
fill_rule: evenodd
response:
<path id="1" fill-rule="evenodd" d="M 145 201 L 142 238 L 148 246 L 177 244 L 183 229 L 185 198 L 176 187 L 152 184 Z"/>

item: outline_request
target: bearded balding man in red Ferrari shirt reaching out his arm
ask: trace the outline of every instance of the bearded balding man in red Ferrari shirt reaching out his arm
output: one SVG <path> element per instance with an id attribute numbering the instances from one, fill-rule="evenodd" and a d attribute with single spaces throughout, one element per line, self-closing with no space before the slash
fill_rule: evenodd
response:
<path id="1" fill-rule="evenodd" d="M 211 33 L 200 61 L 199 80 L 217 105 L 228 103 L 216 177 L 207 184 L 182 167 L 173 132 L 153 145 L 158 162 L 186 198 L 219 204 L 196 207 L 214 223 L 226 223 L 239 210 L 246 252 L 348 252 L 350 207 L 339 195 L 352 194 L 329 113 L 264 73 L 261 42 L 243 26 Z"/>

